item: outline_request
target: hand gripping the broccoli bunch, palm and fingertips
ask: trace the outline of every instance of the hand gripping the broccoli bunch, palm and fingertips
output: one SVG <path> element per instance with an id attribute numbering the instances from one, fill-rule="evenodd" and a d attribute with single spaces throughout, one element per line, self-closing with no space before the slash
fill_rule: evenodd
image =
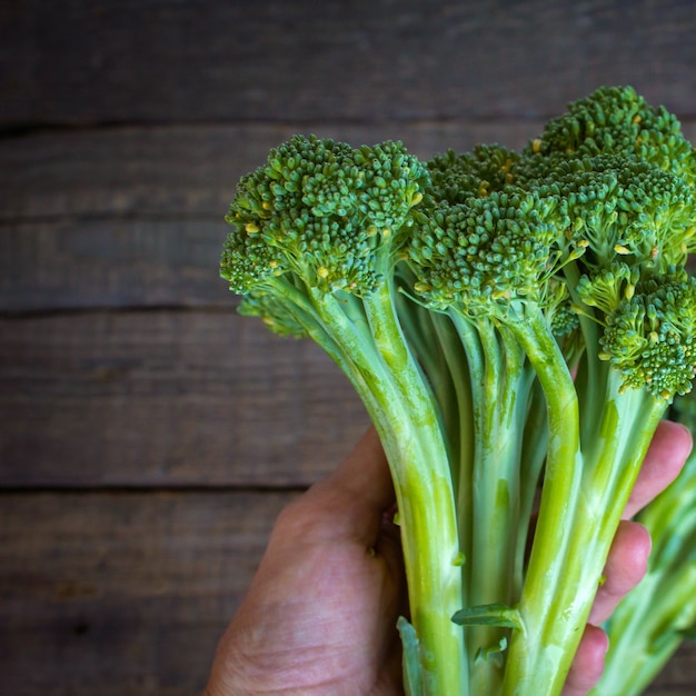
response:
<path id="1" fill-rule="evenodd" d="M 615 537 L 590 624 L 564 696 L 584 696 L 604 669 L 612 614 L 643 577 L 650 540 L 628 518 L 679 473 L 682 426 L 660 424 Z M 324 481 L 279 516 L 249 591 L 220 640 L 205 696 L 397 696 L 407 610 L 394 488 L 374 430 Z"/>

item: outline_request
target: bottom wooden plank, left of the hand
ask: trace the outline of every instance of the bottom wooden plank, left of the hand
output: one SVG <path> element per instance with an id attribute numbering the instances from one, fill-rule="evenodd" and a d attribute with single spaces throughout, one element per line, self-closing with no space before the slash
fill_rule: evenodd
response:
<path id="1" fill-rule="evenodd" d="M 190 696 L 288 494 L 4 495 L 0 692 Z M 685 646 L 649 696 L 694 693 Z"/>

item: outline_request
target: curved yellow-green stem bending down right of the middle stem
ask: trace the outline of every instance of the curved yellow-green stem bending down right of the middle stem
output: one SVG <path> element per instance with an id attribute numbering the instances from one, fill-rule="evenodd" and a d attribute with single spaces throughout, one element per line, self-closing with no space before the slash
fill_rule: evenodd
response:
<path id="1" fill-rule="evenodd" d="M 567 617 L 575 598 L 568 601 L 565 585 L 568 521 L 583 470 L 578 404 L 565 359 L 540 310 L 529 307 L 527 316 L 510 328 L 544 389 L 549 435 L 538 525 L 519 601 L 524 629 L 510 637 L 503 694 L 545 696 L 559 693 L 556 673 L 564 669 L 564 648 L 578 629 L 577 622 Z"/>

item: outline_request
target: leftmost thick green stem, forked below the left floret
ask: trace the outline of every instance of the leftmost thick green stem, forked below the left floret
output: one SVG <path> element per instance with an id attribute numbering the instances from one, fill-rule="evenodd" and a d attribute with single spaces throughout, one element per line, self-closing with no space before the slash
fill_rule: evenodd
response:
<path id="1" fill-rule="evenodd" d="M 395 485 L 410 619 L 426 696 L 468 694 L 461 608 L 460 550 L 447 447 L 424 376 L 401 334 L 385 285 L 365 298 L 369 328 L 356 331 L 340 300 L 315 295 L 328 334 L 340 337 L 348 377 L 375 424 Z"/>

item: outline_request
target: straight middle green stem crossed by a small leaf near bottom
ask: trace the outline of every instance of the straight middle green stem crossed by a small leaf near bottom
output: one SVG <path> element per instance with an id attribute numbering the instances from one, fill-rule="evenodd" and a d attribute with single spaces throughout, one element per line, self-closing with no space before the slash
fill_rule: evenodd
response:
<path id="1" fill-rule="evenodd" d="M 483 319 L 476 322 L 483 348 L 476 387 L 473 469 L 473 548 L 470 606 L 509 606 L 515 596 L 515 558 L 519 516 L 519 461 L 527 402 L 525 356 L 511 334 Z M 524 407 L 521 407 L 523 405 Z M 474 656 L 475 694 L 496 694 L 503 679 L 501 646 L 509 630 L 494 625 L 467 632 Z M 483 656 L 486 656 L 485 658 Z"/>

